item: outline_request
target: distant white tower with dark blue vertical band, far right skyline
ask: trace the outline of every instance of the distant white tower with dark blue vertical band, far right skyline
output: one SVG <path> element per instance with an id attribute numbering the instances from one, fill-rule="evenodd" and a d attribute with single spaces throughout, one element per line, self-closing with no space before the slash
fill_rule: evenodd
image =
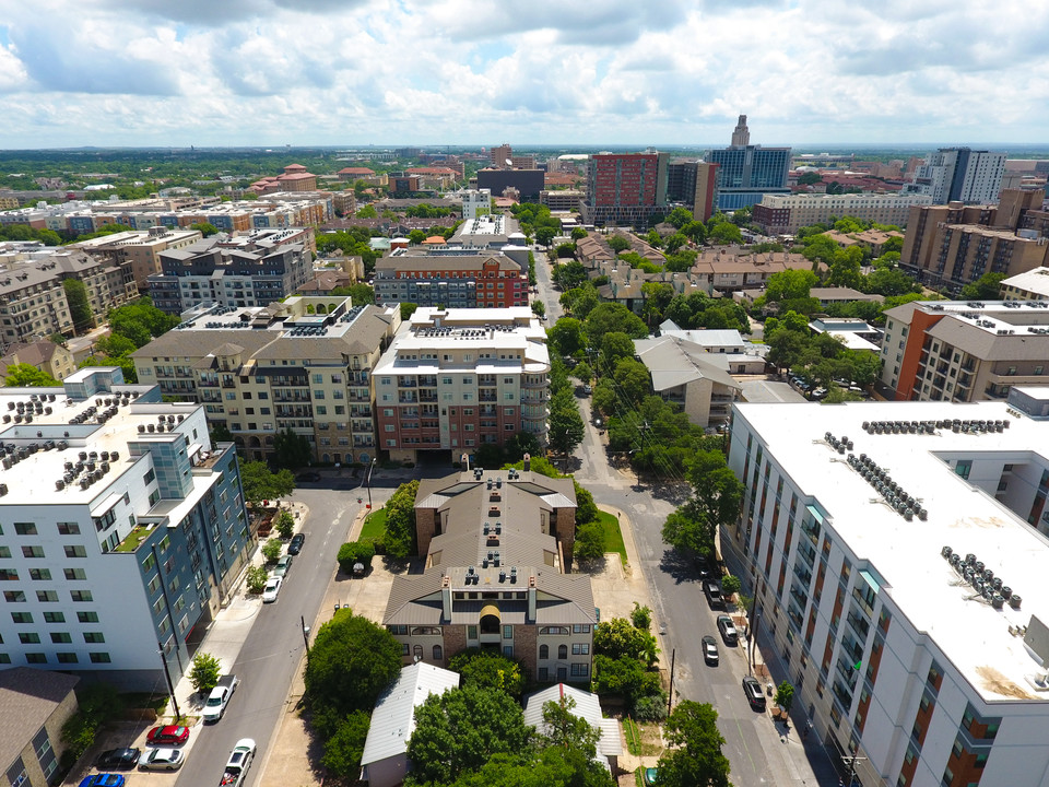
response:
<path id="1" fill-rule="evenodd" d="M 906 190 L 930 195 L 935 204 L 987 204 L 998 199 L 1004 174 L 1004 153 L 941 148 L 915 171 Z"/>

